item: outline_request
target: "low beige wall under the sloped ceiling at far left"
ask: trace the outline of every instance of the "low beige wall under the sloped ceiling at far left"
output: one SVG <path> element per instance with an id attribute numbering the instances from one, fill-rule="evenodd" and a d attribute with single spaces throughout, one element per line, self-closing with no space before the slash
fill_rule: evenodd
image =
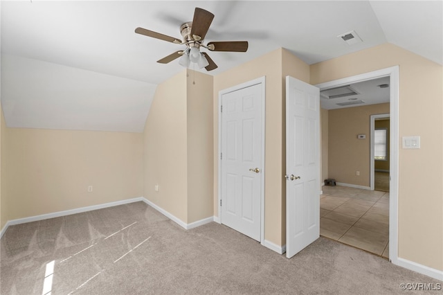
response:
<path id="1" fill-rule="evenodd" d="M 143 134 L 8 128 L 7 135 L 8 220 L 143 196 Z"/>

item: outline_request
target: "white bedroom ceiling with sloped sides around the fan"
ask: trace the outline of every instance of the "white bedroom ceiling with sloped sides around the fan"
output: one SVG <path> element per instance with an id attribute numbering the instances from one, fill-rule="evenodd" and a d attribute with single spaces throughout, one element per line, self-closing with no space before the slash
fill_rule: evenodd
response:
<path id="1" fill-rule="evenodd" d="M 314 64 L 390 42 L 443 64 L 442 1 L 1 1 L 8 126 L 141 132 L 156 84 L 183 71 L 156 60 L 183 46 L 134 29 L 181 39 L 195 7 L 215 15 L 205 43 L 249 42 L 211 52 L 210 75 L 280 47 Z M 337 37 L 351 30 L 363 42 Z"/>

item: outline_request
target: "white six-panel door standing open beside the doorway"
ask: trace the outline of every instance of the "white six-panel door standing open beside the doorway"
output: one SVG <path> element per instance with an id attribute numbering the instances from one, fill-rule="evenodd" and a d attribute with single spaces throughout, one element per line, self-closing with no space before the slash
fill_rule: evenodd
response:
<path id="1" fill-rule="evenodd" d="M 286 77 L 286 257 L 320 236 L 320 89 Z"/>

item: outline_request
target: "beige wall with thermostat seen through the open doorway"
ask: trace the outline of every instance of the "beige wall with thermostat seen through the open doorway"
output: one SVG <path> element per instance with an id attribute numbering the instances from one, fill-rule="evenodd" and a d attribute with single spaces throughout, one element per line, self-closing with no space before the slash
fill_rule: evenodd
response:
<path id="1" fill-rule="evenodd" d="M 327 178 L 370 186 L 370 116 L 388 113 L 389 103 L 329 110 Z M 359 139 L 357 134 L 366 138 Z"/>

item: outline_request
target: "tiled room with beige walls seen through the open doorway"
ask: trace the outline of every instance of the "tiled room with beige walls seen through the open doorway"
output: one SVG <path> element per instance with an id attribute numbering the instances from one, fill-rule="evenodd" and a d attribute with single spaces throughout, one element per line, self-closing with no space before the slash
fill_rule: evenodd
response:
<path id="1" fill-rule="evenodd" d="M 322 122 L 322 133 L 325 133 L 322 140 L 327 141 L 327 144 L 322 144 L 323 150 L 327 151 L 327 154 L 323 152 L 323 157 L 327 159 L 323 161 L 326 166 L 323 167 L 323 177 L 334 179 L 337 186 L 323 186 L 323 195 L 320 196 L 320 235 L 389 259 L 389 167 L 385 167 L 390 162 L 389 118 L 384 118 L 383 122 L 388 124 L 387 128 L 384 125 L 376 127 L 387 129 L 384 141 L 386 154 L 372 158 L 371 165 L 369 160 L 374 157 L 370 151 L 374 147 L 371 145 L 374 139 L 371 130 L 374 128 L 370 128 L 370 116 L 389 116 L 390 78 L 360 83 L 345 84 L 343 87 L 347 89 L 344 90 L 335 87 L 334 91 L 329 91 L 329 97 L 323 97 L 326 110 L 323 111 L 322 120 L 327 121 Z M 337 91 L 344 93 L 337 94 Z M 361 98 L 361 93 L 365 98 Z M 344 106 L 332 105 L 337 95 L 347 100 L 342 103 Z M 372 96 L 381 101 L 366 103 Z M 377 183 L 376 190 L 371 190 L 371 186 L 374 188 L 371 181 Z"/>

